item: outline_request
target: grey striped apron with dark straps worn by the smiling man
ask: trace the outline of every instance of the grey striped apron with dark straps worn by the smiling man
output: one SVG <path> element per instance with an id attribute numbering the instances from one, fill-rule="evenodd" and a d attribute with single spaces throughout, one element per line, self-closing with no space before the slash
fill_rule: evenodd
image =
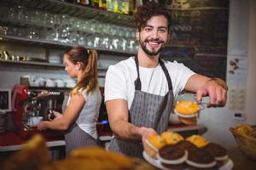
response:
<path id="1" fill-rule="evenodd" d="M 160 66 L 166 75 L 169 91 L 165 96 L 145 93 L 141 91 L 142 83 L 139 76 L 137 57 L 135 57 L 135 61 L 138 77 L 134 82 L 135 94 L 129 111 L 128 122 L 137 127 L 151 127 L 157 133 L 162 133 L 167 130 L 174 101 L 171 77 L 166 69 L 166 65 L 159 59 Z M 126 156 L 143 157 L 143 144 L 138 142 L 127 142 L 113 138 L 110 141 L 109 150 L 114 150 Z"/>

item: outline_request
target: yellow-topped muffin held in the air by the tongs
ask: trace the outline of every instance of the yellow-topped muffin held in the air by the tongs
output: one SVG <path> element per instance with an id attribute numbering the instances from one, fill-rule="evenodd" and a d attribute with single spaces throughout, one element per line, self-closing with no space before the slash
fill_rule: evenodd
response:
<path id="1" fill-rule="evenodd" d="M 174 109 L 179 120 L 189 125 L 196 124 L 200 110 L 200 106 L 196 102 L 190 100 L 178 101 Z"/>

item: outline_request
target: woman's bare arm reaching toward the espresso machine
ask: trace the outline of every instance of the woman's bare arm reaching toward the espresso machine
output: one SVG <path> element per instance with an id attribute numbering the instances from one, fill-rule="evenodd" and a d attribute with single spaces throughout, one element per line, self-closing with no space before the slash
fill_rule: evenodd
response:
<path id="1" fill-rule="evenodd" d="M 56 130 L 67 130 L 68 127 L 76 120 L 79 116 L 80 111 L 82 111 L 85 104 L 84 96 L 81 93 L 73 94 L 67 105 L 67 109 L 63 113 L 63 116 L 53 121 L 44 121 L 38 123 L 37 127 L 39 130 L 44 130 L 47 128 Z"/>

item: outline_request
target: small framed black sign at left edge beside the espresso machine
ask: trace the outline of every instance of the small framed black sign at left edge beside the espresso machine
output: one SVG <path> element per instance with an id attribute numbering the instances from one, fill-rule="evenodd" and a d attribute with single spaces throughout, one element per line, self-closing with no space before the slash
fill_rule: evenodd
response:
<path id="1" fill-rule="evenodd" d="M 11 111 L 11 89 L 0 89 L 0 111 Z"/>

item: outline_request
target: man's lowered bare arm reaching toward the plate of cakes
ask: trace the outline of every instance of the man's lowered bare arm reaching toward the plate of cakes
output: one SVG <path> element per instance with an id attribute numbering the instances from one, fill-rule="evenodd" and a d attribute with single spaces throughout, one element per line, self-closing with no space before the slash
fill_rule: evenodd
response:
<path id="1" fill-rule="evenodd" d="M 152 128 L 137 127 L 128 122 L 128 104 L 125 99 L 113 99 L 106 102 L 108 121 L 117 139 L 141 141 L 156 132 Z"/>

